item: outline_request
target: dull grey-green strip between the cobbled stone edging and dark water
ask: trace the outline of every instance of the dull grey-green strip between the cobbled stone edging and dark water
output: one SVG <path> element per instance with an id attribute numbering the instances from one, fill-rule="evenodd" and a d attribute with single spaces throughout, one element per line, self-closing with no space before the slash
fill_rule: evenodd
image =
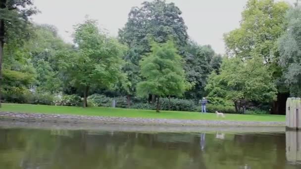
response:
<path id="1" fill-rule="evenodd" d="M 1 120 L 0 128 L 25 128 L 45 130 L 88 130 L 89 133 L 99 132 L 140 132 L 140 133 L 280 133 L 285 127 L 216 127 L 216 126 L 168 126 L 168 125 L 119 125 L 119 124 L 89 124 L 86 123 L 53 123 L 33 121 Z"/>

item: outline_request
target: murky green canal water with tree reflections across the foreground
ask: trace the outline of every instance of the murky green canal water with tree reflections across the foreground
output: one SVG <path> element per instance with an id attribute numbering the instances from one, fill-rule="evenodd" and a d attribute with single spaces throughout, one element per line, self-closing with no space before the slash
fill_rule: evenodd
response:
<path id="1" fill-rule="evenodd" d="M 0 128 L 0 169 L 301 169 L 298 140 L 297 132 Z"/>

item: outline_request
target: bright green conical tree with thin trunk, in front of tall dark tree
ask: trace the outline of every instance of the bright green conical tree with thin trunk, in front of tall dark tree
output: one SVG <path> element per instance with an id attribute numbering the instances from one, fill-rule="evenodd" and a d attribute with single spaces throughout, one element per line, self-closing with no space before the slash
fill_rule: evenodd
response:
<path id="1" fill-rule="evenodd" d="M 181 96 L 186 89 L 183 60 L 177 54 L 172 41 L 163 44 L 152 42 L 151 53 L 140 62 L 142 82 L 138 83 L 139 96 L 157 96 L 156 111 L 160 109 L 160 97 Z"/>

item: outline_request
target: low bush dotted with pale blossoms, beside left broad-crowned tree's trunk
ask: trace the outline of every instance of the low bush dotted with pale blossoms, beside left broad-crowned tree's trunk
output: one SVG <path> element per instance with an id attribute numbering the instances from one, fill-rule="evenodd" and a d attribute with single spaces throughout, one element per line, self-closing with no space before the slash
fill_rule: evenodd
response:
<path id="1" fill-rule="evenodd" d="M 61 98 L 57 97 L 54 104 L 61 106 L 79 106 L 82 104 L 82 98 L 76 94 L 63 95 Z"/>

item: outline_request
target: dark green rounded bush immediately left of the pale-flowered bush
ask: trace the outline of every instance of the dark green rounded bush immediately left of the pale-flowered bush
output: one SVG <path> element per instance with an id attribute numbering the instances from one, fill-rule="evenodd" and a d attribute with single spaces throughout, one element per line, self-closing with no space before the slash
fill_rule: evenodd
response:
<path id="1" fill-rule="evenodd" d="M 30 104 L 52 105 L 54 101 L 53 95 L 47 92 L 35 92 L 29 101 Z"/>

